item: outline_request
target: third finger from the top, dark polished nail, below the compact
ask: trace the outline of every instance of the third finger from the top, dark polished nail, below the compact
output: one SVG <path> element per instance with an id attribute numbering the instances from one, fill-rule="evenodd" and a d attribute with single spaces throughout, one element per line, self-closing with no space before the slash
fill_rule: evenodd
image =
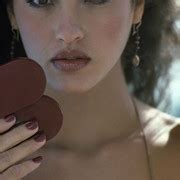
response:
<path id="1" fill-rule="evenodd" d="M 46 142 L 44 133 L 24 141 L 20 145 L 0 154 L 0 172 L 40 149 Z"/>

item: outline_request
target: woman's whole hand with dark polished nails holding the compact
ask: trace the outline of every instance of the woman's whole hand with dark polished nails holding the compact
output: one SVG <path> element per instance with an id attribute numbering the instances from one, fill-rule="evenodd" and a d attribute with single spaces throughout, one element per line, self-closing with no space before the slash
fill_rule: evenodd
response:
<path id="1" fill-rule="evenodd" d="M 33 136 L 39 129 L 37 121 L 13 128 L 15 122 L 13 116 L 0 119 L 0 180 L 21 179 L 41 164 L 41 156 L 22 161 L 46 142 L 43 133 Z"/>

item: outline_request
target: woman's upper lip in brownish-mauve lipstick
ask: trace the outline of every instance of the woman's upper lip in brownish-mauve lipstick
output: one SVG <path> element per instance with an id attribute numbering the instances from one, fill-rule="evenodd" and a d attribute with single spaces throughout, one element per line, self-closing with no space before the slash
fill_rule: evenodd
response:
<path id="1" fill-rule="evenodd" d="M 58 59 L 91 59 L 84 52 L 79 50 L 63 50 L 58 52 L 52 60 Z"/>

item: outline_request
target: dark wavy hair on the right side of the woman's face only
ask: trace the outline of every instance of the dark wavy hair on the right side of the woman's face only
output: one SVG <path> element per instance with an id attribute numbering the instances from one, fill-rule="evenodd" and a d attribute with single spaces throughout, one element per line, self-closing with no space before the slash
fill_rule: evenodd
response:
<path id="1" fill-rule="evenodd" d="M 173 49 L 179 42 L 174 28 L 176 15 L 174 0 L 147 0 L 140 28 L 140 66 L 132 66 L 136 48 L 133 36 L 129 37 L 122 55 L 124 74 L 133 87 L 133 94 L 152 106 L 158 106 L 162 100 L 167 102 L 164 110 L 170 103 L 165 96 L 170 80 L 168 70 L 173 61 Z M 164 81 L 157 86 L 160 77 Z"/>

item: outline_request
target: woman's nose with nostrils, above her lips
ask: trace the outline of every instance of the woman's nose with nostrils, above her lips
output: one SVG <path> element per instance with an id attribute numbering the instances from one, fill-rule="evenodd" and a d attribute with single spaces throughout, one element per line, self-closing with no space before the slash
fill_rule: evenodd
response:
<path id="1" fill-rule="evenodd" d="M 60 23 L 56 30 L 56 40 L 65 44 L 73 44 L 84 37 L 84 31 L 80 25 L 70 17 L 60 18 Z"/>

